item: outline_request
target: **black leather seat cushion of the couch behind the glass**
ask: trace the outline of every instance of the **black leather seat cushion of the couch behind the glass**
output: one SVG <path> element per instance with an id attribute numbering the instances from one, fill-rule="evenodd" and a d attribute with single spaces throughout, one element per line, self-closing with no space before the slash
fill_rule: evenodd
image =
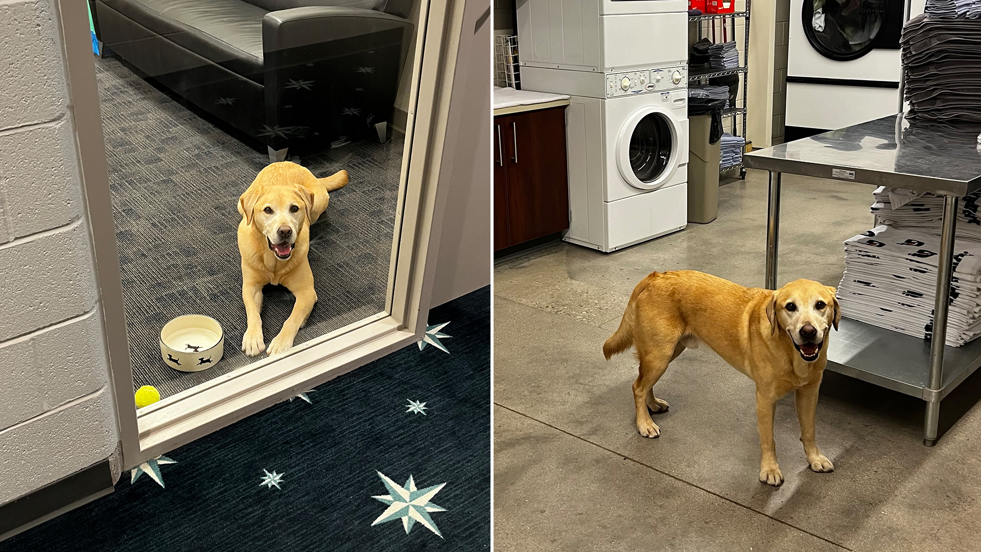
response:
<path id="1" fill-rule="evenodd" d="M 242 0 L 103 0 L 145 28 L 262 83 L 262 18 Z"/>

